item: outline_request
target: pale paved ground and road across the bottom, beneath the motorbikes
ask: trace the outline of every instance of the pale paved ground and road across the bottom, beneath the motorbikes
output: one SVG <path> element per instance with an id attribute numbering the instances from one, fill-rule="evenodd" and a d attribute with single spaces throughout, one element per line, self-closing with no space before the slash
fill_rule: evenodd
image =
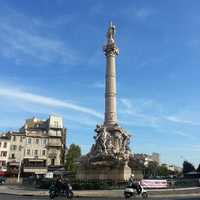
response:
<path id="1" fill-rule="evenodd" d="M 149 193 L 149 199 L 200 199 L 200 188 L 179 188 L 179 189 L 163 189 L 163 190 L 151 190 Z M 123 190 L 84 190 L 74 191 L 74 199 L 124 199 Z M 24 188 L 22 186 L 0 186 L 0 199 L 2 200 L 41 200 L 49 199 L 48 190 L 38 190 L 35 188 Z M 55 199 L 64 199 L 58 197 Z M 133 199 L 133 198 L 131 198 Z M 141 199 L 141 198 L 136 198 Z"/>

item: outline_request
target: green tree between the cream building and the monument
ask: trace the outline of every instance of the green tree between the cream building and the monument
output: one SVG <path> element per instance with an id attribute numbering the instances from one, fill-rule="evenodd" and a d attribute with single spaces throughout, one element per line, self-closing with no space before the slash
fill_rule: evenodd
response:
<path id="1" fill-rule="evenodd" d="M 81 148 L 79 145 L 71 144 L 65 157 L 65 169 L 73 173 L 77 172 L 77 160 L 81 156 Z"/>

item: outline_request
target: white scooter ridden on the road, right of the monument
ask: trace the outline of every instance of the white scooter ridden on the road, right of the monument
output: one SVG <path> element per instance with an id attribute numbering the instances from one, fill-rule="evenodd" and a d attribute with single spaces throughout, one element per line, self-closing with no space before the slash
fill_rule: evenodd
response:
<path id="1" fill-rule="evenodd" d="M 148 198 L 147 191 L 140 185 L 140 183 L 138 185 L 141 188 L 140 194 L 137 193 L 136 189 L 134 189 L 131 185 L 129 185 L 124 190 L 124 197 L 128 199 L 130 197 L 136 198 L 136 196 L 141 196 L 143 199 L 147 199 Z"/>

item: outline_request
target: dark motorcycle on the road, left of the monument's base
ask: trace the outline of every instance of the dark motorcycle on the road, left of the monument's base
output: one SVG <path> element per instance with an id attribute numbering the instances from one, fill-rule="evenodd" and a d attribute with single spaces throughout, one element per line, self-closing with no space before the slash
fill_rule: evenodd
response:
<path id="1" fill-rule="evenodd" d="M 72 199 L 74 196 L 72 186 L 68 183 L 65 189 L 60 189 L 58 186 L 56 186 L 56 184 L 52 184 L 49 188 L 49 198 L 54 199 L 58 196 L 64 196 L 67 199 Z"/>

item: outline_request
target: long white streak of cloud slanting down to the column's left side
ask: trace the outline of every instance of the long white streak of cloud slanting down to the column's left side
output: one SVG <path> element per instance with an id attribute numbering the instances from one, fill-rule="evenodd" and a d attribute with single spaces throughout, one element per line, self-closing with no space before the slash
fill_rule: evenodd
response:
<path id="1" fill-rule="evenodd" d="M 71 109 L 77 112 L 82 112 L 97 118 L 103 118 L 102 114 L 88 107 L 76 105 L 67 101 L 59 100 L 56 98 L 41 96 L 37 94 L 32 94 L 29 92 L 24 92 L 16 88 L 1 88 L 0 96 L 9 97 L 11 99 L 22 100 L 29 103 L 45 105 L 48 107 L 61 107 Z"/>

